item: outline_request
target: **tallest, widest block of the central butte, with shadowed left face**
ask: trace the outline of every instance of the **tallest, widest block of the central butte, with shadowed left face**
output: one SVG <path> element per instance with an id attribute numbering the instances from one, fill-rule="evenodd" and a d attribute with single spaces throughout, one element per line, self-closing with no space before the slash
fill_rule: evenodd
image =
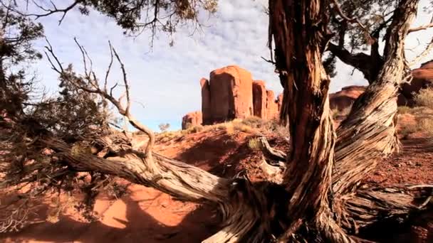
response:
<path id="1" fill-rule="evenodd" d="M 253 115 L 253 80 L 247 70 L 235 65 L 214 70 L 209 87 L 212 122 Z"/>

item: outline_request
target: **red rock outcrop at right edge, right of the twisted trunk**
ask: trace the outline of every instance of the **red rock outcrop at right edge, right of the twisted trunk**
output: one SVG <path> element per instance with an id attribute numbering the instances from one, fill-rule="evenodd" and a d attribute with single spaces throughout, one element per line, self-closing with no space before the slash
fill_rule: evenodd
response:
<path id="1" fill-rule="evenodd" d="M 412 82 L 403 84 L 398 97 L 398 105 L 414 105 L 413 93 L 433 85 L 433 60 L 423 63 L 421 67 L 412 70 Z"/>

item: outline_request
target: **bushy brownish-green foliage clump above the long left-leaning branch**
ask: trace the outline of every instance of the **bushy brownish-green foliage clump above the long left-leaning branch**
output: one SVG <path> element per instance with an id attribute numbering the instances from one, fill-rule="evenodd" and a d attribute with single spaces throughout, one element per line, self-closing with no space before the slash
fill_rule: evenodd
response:
<path id="1" fill-rule="evenodd" d="M 59 77 L 59 95 L 28 109 L 28 116 L 37 119 L 39 124 L 58 137 L 100 135 L 113 120 L 107 103 L 97 95 L 75 87 L 68 82 L 71 79 L 80 77 L 73 71 L 72 65 L 69 65 Z"/>

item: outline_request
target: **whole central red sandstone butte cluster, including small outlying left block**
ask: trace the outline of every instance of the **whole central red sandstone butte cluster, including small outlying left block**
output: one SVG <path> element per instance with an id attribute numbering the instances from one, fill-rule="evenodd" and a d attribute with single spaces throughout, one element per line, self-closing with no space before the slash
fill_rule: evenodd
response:
<path id="1" fill-rule="evenodd" d="M 182 118 L 182 129 L 191 125 L 210 125 L 256 116 L 278 118 L 278 100 L 265 82 L 253 80 L 251 72 L 236 65 L 213 70 L 209 80 L 200 80 L 202 112 L 188 113 Z M 201 119 L 193 118 L 202 115 Z"/>

